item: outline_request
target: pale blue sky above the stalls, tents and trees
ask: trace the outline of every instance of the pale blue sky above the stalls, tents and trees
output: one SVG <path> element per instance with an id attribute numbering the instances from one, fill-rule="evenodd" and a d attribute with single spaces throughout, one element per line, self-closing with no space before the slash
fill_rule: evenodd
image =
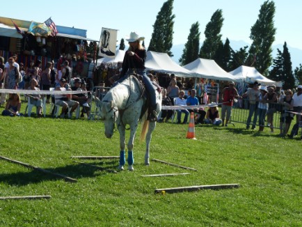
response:
<path id="1" fill-rule="evenodd" d="M 15 0 L 13 5 L 5 6 L 1 16 L 16 19 L 44 22 L 51 17 L 61 26 L 74 26 L 86 29 L 87 37 L 100 40 L 102 27 L 118 29 L 118 43 L 121 38 L 137 31 L 145 36 L 148 47 L 157 13 L 164 0 L 64 0 L 37 1 Z M 302 49 L 301 8 L 302 1 L 275 0 L 277 29 L 274 45 L 287 42 L 289 47 Z M 255 24 L 260 6 L 264 1 L 253 0 L 174 0 L 175 14 L 173 45 L 184 44 L 189 29 L 195 22 L 200 24 L 200 42 L 205 38 L 205 26 L 217 9 L 223 10 L 223 40 L 244 40 L 249 38 L 251 26 Z"/>

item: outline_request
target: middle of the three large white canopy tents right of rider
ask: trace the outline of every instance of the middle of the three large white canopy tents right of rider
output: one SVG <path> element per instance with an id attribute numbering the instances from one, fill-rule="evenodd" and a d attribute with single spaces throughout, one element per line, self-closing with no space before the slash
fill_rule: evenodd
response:
<path id="1" fill-rule="evenodd" d="M 239 79 L 225 72 L 214 60 L 210 59 L 197 58 L 195 61 L 184 65 L 184 68 L 193 72 L 193 77 L 222 81 L 237 81 Z"/>

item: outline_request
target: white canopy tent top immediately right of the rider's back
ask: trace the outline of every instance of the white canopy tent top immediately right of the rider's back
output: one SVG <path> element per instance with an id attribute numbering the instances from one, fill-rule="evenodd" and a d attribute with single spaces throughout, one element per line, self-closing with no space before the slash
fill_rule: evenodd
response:
<path id="1" fill-rule="evenodd" d="M 145 59 L 146 70 L 174 73 L 179 77 L 192 77 L 193 73 L 173 61 L 166 53 L 147 52 Z"/>

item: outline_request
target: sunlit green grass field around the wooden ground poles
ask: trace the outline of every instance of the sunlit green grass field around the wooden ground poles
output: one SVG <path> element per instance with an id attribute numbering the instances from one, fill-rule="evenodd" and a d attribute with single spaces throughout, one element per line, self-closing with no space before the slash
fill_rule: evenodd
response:
<path id="1" fill-rule="evenodd" d="M 145 143 L 136 136 L 135 170 L 109 173 L 70 158 L 119 155 L 118 132 L 106 139 L 100 120 L 0 116 L 0 122 L 1 156 L 77 179 L 65 182 L 0 159 L 0 196 L 51 196 L 0 200 L 0 226 L 302 226 L 299 139 L 235 123 L 198 125 L 194 141 L 185 139 L 188 125 L 160 123 L 150 158 L 197 171 L 158 162 L 145 166 Z M 118 166 L 117 159 L 76 161 Z M 184 172 L 190 174 L 141 177 Z M 240 187 L 154 194 L 160 188 L 232 183 Z"/>

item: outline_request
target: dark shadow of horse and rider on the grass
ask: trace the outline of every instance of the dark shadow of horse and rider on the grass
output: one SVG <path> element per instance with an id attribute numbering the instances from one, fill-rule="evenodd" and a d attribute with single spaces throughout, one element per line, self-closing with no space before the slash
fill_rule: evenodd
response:
<path id="1" fill-rule="evenodd" d="M 2 161 L 1 161 L 2 162 Z M 4 161 L 3 161 L 4 162 Z M 67 166 L 59 166 L 55 168 L 42 168 L 51 173 L 64 175 L 68 178 L 79 180 L 81 178 L 94 178 L 97 175 L 117 173 L 114 169 L 117 168 L 117 162 L 83 162 L 70 164 Z M 94 166 L 92 166 L 94 165 Z M 106 166 L 102 166 L 106 165 Z M 97 168 L 97 167 L 99 168 Z M 8 185 L 29 185 L 38 184 L 43 181 L 64 180 L 64 178 L 51 173 L 42 173 L 35 169 L 29 169 L 29 172 L 17 173 L 0 173 L 0 182 Z"/>

